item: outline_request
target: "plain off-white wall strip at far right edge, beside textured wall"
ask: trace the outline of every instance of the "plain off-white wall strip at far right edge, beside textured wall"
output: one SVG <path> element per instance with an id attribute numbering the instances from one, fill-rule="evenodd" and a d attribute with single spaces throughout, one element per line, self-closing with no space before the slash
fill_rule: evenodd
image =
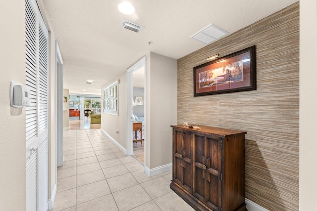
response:
<path id="1" fill-rule="evenodd" d="M 317 2 L 300 1 L 299 208 L 317 208 Z"/>

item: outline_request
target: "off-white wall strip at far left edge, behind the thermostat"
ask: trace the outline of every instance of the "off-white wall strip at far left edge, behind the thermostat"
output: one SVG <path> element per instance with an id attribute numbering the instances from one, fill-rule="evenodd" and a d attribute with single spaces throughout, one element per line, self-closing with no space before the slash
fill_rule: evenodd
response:
<path id="1" fill-rule="evenodd" d="M 26 208 L 25 107 L 12 108 L 10 81 L 25 85 L 25 1 L 0 6 L 0 211 Z"/>

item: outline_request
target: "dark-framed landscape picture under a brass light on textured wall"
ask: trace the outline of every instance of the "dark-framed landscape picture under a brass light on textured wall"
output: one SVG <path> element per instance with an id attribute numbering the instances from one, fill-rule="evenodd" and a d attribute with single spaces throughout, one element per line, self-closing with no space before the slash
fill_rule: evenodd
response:
<path id="1" fill-rule="evenodd" d="M 194 67 L 194 97 L 255 89 L 255 45 Z"/>

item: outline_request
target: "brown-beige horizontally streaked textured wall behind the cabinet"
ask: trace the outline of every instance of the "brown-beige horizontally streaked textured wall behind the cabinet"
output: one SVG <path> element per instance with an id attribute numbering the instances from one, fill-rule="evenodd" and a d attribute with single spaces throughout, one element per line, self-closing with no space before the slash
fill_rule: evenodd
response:
<path id="1" fill-rule="evenodd" d="M 193 67 L 252 45 L 257 90 L 193 97 Z M 246 130 L 246 198 L 298 210 L 299 2 L 178 59 L 177 78 L 178 124 Z"/>

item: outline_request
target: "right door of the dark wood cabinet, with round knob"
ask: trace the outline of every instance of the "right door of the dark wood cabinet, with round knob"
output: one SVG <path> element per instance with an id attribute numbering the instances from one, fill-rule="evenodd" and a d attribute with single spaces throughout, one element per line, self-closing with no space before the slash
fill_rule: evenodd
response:
<path id="1" fill-rule="evenodd" d="M 194 195 L 213 210 L 221 208 L 221 139 L 193 133 Z"/>

